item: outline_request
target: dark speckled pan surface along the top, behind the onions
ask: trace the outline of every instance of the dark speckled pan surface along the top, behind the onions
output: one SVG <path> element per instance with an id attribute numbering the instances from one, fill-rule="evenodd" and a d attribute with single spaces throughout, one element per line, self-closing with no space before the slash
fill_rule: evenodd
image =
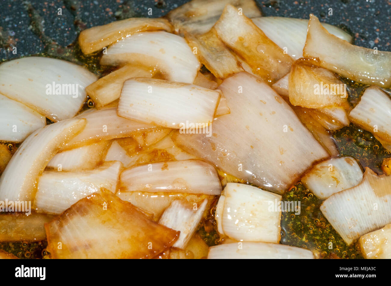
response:
<path id="1" fill-rule="evenodd" d="M 79 30 L 103 25 L 117 19 L 160 17 L 187 0 L 0 0 L 0 58 L 2 60 L 38 54 L 71 45 Z M 391 2 L 387 0 L 256 0 L 265 16 L 308 18 L 346 28 L 355 44 L 391 51 Z M 57 15 L 61 8 L 62 15 Z M 332 8 L 332 15 L 329 9 Z M 17 54 L 12 47 L 17 47 Z"/>

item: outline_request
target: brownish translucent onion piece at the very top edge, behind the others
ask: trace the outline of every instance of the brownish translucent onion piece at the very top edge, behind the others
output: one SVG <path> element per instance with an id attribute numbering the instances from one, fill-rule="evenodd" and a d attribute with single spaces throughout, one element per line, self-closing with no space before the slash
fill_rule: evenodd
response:
<path id="1" fill-rule="evenodd" d="M 174 25 L 175 32 L 182 35 L 208 32 L 219 20 L 226 4 L 241 8 L 248 17 L 259 17 L 261 12 L 253 0 L 192 0 L 170 11 L 167 18 Z"/>

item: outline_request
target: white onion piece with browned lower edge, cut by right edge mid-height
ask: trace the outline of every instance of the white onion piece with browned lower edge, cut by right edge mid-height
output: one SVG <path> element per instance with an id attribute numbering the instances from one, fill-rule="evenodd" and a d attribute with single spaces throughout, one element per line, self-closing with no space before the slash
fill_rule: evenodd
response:
<path id="1" fill-rule="evenodd" d="M 349 118 L 376 137 L 391 142 L 391 99 L 378 87 L 371 86 L 364 91 Z"/>

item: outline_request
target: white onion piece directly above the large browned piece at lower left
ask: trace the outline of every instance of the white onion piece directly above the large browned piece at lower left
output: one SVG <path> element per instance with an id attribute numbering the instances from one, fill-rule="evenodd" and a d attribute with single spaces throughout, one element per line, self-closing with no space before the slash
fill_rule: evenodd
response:
<path id="1" fill-rule="evenodd" d="M 121 168 L 121 162 L 112 161 L 91 170 L 45 171 L 38 179 L 34 206 L 40 212 L 59 214 L 100 188 L 115 193 Z"/>

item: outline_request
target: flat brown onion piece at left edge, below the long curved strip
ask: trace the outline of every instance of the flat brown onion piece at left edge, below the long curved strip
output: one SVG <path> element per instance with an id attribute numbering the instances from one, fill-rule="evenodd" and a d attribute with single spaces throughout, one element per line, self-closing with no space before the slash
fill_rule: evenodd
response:
<path id="1" fill-rule="evenodd" d="M 0 215 L 0 242 L 39 242 L 46 239 L 45 223 L 53 219 L 43 213 Z"/>

